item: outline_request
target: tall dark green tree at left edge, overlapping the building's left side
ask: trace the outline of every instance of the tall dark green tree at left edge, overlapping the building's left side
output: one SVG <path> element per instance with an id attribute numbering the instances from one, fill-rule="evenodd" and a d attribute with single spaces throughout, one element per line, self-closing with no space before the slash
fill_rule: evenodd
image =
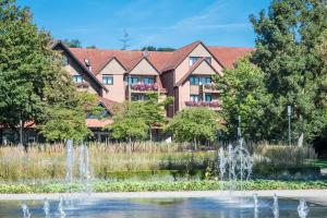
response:
<path id="1" fill-rule="evenodd" d="M 48 119 L 47 107 L 72 100 L 75 87 L 50 35 L 32 24 L 29 10 L 14 0 L 0 5 L 0 123 L 23 133 L 27 123 Z"/>

